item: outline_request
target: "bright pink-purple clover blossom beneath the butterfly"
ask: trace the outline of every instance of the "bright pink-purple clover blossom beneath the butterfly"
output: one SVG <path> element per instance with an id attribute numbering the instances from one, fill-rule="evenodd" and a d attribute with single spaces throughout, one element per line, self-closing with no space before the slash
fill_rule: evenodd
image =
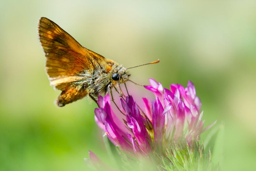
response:
<path id="1" fill-rule="evenodd" d="M 120 151 L 139 160 L 151 158 L 152 154 L 165 154 L 172 142 L 185 140 L 188 146 L 193 140 L 199 140 L 204 120 L 201 101 L 196 96 L 192 82 L 187 87 L 171 84 L 170 89 L 163 88 L 154 79 L 151 85 L 144 86 L 155 95 L 154 100 L 142 98 L 139 106 L 132 96 L 120 99 L 120 112 L 112 109 L 110 97 L 99 96 L 99 108 L 95 109 L 95 121 L 105 132 L 109 140 Z"/>

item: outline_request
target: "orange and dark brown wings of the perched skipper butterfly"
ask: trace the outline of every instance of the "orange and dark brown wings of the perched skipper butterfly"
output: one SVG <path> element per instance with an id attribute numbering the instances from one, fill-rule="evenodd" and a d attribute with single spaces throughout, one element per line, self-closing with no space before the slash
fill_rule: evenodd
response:
<path id="1" fill-rule="evenodd" d="M 50 84 L 61 90 L 58 106 L 86 96 L 78 82 L 85 70 L 93 71 L 105 58 L 81 46 L 70 34 L 53 21 L 42 17 L 38 24 L 39 39 L 46 56 L 46 72 Z"/>

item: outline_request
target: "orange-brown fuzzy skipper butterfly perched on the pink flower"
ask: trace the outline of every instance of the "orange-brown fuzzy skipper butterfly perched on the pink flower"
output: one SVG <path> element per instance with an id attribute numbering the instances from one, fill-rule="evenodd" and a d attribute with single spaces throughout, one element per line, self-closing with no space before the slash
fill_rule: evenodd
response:
<path id="1" fill-rule="evenodd" d="M 50 85 L 61 90 L 56 100 L 58 106 L 65 106 L 86 95 L 97 103 L 96 96 L 109 92 L 112 95 L 112 87 L 129 80 L 130 73 L 123 65 L 83 47 L 48 18 L 40 18 L 38 34 L 46 57 L 45 69 Z M 157 62 L 159 60 L 151 63 Z"/>

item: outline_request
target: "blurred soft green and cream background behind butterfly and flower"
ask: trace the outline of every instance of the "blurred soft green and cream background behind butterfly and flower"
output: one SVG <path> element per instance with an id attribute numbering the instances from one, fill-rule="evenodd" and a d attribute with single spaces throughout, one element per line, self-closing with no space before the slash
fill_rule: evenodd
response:
<path id="1" fill-rule="evenodd" d="M 256 168 L 256 2 L 0 2 L 0 170 L 87 170 L 88 150 L 108 160 L 88 98 L 57 108 L 37 24 L 48 17 L 83 46 L 164 86 L 191 80 L 222 170 Z M 143 89 L 142 87 L 137 87 Z M 202 134 L 202 141 L 207 134 Z M 218 132 L 218 133 L 216 133 Z"/>

